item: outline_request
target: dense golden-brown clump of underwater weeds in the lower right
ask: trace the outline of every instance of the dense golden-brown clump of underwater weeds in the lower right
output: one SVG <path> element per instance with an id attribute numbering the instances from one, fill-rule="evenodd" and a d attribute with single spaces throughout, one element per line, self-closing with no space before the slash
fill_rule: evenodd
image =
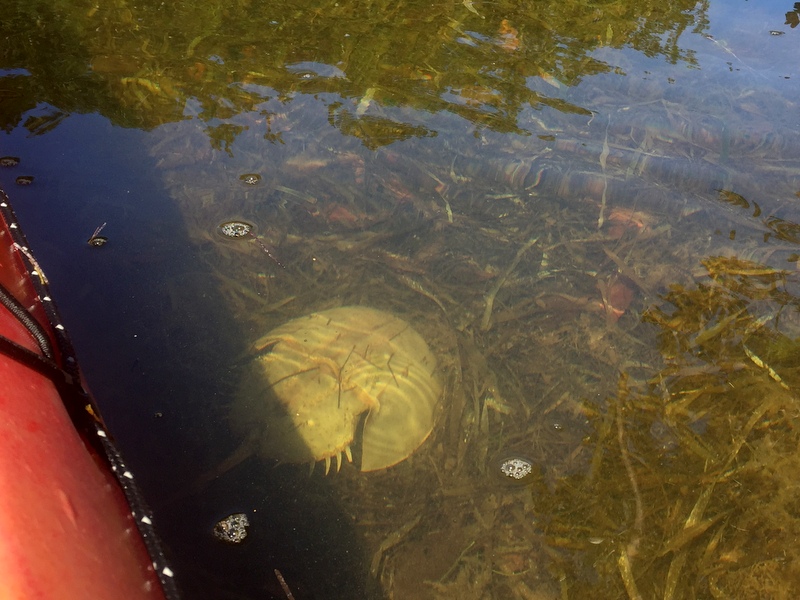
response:
<path id="1" fill-rule="evenodd" d="M 587 403 L 586 470 L 535 491 L 563 597 L 800 589 L 796 315 L 777 323 L 798 298 L 765 265 L 705 264 L 705 283 L 672 287 L 672 309 L 644 315 L 666 366 L 636 383 L 623 373 L 616 394 Z"/>

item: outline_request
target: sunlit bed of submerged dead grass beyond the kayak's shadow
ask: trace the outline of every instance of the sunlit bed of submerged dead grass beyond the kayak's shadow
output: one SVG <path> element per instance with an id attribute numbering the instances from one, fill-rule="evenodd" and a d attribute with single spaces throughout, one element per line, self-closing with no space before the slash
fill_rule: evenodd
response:
<path id="1" fill-rule="evenodd" d="M 796 595 L 796 244 L 762 216 L 791 223 L 792 209 L 698 192 L 708 161 L 686 158 L 688 138 L 658 162 L 626 154 L 635 109 L 589 134 L 551 114 L 551 149 L 454 129 L 373 151 L 315 106 L 269 106 L 294 143 L 265 150 L 244 131 L 234 156 L 209 158 L 189 124 L 156 151 L 240 327 L 237 361 L 273 327 L 346 304 L 406 319 L 440 357 L 431 439 L 392 469 L 327 480 L 374 597 Z M 234 218 L 285 268 L 221 239 Z M 523 485 L 499 471 L 517 456 L 534 465 Z M 258 481 L 269 467 L 247 468 Z"/>

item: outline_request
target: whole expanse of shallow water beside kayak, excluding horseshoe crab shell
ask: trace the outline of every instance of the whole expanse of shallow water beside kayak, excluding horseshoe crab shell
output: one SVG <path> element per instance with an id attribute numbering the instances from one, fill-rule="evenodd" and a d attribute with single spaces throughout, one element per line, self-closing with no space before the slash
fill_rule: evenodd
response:
<path id="1" fill-rule="evenodd" d="M 9 11 L 0 183 L 187 597 L 792 596 L 790 8 Z M 342 304 L 441 356 L 431 439 L 199 486 L 250 344 Z"/>

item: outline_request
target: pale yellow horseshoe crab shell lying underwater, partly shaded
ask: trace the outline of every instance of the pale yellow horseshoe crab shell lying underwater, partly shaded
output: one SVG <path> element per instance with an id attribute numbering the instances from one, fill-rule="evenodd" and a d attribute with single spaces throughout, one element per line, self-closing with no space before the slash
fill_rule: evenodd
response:
<path id="1" fill-rule="evenodd" d="M 331 459 L 351 446 L 360 469 L 410 456 L 430 435 L 442 395 L 436 358 L 394 315 L 345 306 L 289 321 L 258 340 L 232 419 L 281 462 Z"/>

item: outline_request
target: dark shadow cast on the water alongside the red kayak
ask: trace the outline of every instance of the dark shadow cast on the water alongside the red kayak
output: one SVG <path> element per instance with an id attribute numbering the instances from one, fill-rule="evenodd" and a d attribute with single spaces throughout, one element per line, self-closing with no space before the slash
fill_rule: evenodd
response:
<path id="1" fill-rule="evenodd" d="M 165 504 L 240 443 L 226 421 L 231 365 L 260 334 L 231 319 L 140 140 L 93 116 L 72 117 L 48 136 L 16 132 L 4 151 L 21 157 L 36 184 L 15 187 L 12 171 L 0 173 L 0 183 L 155 511 L 185 597 L 282 598 L 279 569 L 298 600 L 377 598 L 364 587 L 364 552 L 330 480 L 309 477 L 305 466 L 250 459 L 201 493 Z M 90 247 L 104 222 L 108 244 Z M 250 518 L 248 539 L 217 541 L 214 523 L 239 511 Z"/>

